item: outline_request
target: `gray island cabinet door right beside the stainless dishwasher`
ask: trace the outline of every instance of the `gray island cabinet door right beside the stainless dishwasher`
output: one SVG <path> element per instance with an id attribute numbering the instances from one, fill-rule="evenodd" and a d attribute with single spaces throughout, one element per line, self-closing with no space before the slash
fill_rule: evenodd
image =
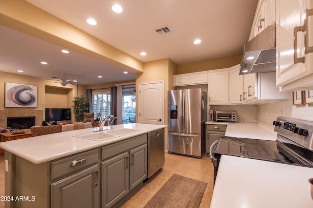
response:
<path id="1" fill-rule="evenodd" d="M 147 144 L 130 151 L 130 189 L 147 178 Z"/>

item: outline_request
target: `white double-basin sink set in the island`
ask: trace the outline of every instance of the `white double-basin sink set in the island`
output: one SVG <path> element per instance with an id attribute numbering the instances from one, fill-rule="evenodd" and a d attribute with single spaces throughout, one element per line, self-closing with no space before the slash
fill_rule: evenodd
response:
<path id="1" fill-rule="evenodd" d="M 105 139 L 111 139 L 117 136 L 122 136 L 128 133 L 133 133 L 137 131 L 138 130 L 135 130 L 135 129 L 120 128 L 120 129 L 104 130 L 104 131 L 99 131 L 99 132 L 92 132 L 92 133 L 79 134 L 79 135 L 73 135 L 73 136 L 77 138 L 82 138 L 82 139 L 103 141 Z"/>

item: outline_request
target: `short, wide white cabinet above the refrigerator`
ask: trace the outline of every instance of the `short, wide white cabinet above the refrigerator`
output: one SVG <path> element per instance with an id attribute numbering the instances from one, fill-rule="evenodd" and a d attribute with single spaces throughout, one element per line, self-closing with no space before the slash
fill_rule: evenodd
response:
<path id="1" fill-rule="evenodd" d="M 174 75 L 174 87 L 196 84 L 207 84 L 207 73 Z"/>

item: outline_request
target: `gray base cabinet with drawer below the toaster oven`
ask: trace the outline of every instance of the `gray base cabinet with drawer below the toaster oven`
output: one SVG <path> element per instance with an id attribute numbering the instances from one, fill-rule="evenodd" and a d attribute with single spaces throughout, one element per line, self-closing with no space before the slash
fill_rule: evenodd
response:
<path id="1" fill-rule="evenodd" d="M 227 125 L 220 125 L 220 124 L 206 124 L 206 153 L 209 154 L 210 147 L 220 138 L 220 136 L 225 135 Z M 215 147 L 213 148 L 213 152 L 215 151 Z"/>

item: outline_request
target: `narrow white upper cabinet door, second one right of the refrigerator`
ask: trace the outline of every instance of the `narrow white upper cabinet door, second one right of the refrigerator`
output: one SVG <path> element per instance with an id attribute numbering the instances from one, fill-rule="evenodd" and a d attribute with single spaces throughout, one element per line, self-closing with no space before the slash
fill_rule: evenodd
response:
<path id="1" fill-rule="evenodd" d="M 244 76 L 239 71 L 240 64 L 229 68 L 229 104 L 243 104 Z"/>

